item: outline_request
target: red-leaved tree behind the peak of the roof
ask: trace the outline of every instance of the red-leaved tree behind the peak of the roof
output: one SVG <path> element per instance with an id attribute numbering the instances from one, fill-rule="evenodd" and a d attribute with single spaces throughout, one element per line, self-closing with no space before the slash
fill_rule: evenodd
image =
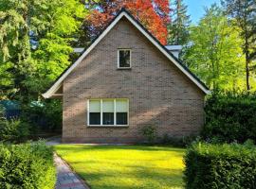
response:
<path id="1" fill-rule="evenodd" d="M 167 43 L 167 24 L 170 11 L 168 0 L 100 1 L 95 4 L 94 11 L 86 19 L 84 29 L 90 31 L 91 38 L 97 36 L 121 8 L 128 9 L 160 43 Z"/>

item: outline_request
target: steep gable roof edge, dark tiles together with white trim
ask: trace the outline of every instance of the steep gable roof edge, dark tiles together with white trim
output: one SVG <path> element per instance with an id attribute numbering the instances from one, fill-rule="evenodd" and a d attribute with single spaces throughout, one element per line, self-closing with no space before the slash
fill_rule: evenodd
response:
<path id="1" fill-rule="evenodd" d="M 64 78 L 67 77 L 74 69 L 75 67 L 91 52 L 91 50 L 101 42 L 101 40 L 105 37 L 105 35 L 119 23 L 119 20 L 125 17 L 127 18 L 133 26 L 136 26 L 137 29 L 151 42 L 155 45 L 155 47 L 162 52 L 169 60 L 171 60 L 174 65 L 187 77 L 189 77 L 192 82 L 199 88 L 201 89 L 205 94 L 210 94 L 209 88 L 177 58 L 174 57 L 174 55 L 144 27 L 142 26 L 137 19 L 126 9 L 120 9 L 119 13 L 117 16 L 112 20 L 112 22 L 109 23 L 108 26 L 106 26 L 101 34 L 92 41 L 92 43 L 88 46 L 88 48 L 84 49 L 82 52 L 82 55 L 78 60 L 76 60 L 74 63 L 72 63 L 68 68 L 64 70 L 62 75 L 58 77 L 54 83 L 51 85 L 51 87 L 46 91 L 43 96 L 45 98 L 51 97 L 56 91 L 60 89 L 62 86 L 62 82 L 64 81 Z"/>

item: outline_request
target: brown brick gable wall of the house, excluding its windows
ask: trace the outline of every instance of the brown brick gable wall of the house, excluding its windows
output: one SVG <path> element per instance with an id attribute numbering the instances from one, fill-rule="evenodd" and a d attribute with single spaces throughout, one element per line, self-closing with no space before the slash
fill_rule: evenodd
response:
<path id="1" fill-rule="evenodd" d="M 132 49 L 132 69 L 118 70 L 118 48 Z M 87 126 L 87 99 L 129 98 L 128 128 Z M 158 135 L 195 134 L 204 94 L 124 18 L 64 79 L 63 141 L 133 143 L 155 124 Z"/>

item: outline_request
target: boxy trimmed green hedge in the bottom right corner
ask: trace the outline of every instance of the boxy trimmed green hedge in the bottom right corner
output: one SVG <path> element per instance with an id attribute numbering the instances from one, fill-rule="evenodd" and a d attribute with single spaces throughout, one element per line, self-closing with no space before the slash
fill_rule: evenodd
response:
<path id="1" fill-rule="evenodd" d="M 193 144 L 185 156 L 189 189 L 256 188 L 256 147 Z"/>

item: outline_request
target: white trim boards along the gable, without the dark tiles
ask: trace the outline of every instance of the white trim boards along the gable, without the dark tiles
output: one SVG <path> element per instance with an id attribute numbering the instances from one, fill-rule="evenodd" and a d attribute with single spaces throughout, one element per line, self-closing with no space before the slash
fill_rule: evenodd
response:
<path id="1" fill-rule="evenodd" d="M 180 65 L 179 62 L 177 62 L 176 60 L 174 60 L 174 58 L 165 51 L 165 49 L 157 42 L 155 42 L 155 39 L 152 38 L 152 36 L 150 36 L 141 26 L 139 26 L 137 24 L 137 22 L 134 21 L 133 18 L 131 18 L 131 16 L 129 14 L 127 14 L 125 11 L 122 11 L 119 16 L 110 24 L 110 26 L 108 26 L 99 36 L 99 38 L 97 38 L 97 40 L 92 43 L 89 48 L 87 48 L 85 50 L 85 52 L 83 52 L 82 56 L 76 60 L 65 72 L 64 75 L 62 77 L 60 77 L 49 89 L 48 91 L 46 91 L 45 94 L 43 94 L 43 96 L 45 98 L 49 98 L 51 95 L 53 95 L 62 85 L 62 82 L 64 81 L 64 78 L 67 77 L 74 69 L 75 67 L 91 52 L 91 50 L 98 44 L 101 42 L 101 40 L 105 37 L 105 35 L 114 27 L 117 25 L 117 23 L 119 22 L 119 20 L 122 17 L 126 17 L 134 26 L 137 27 L 137 29 L 151 42 L 155 45 L 155 47 L 157 47 L 169 60 L 171 60 L 172 62 L 174 62 L 174 64 L 187 76 L 189 77 L 205 94 L 210 94 L 210 90 L 206 89 L 197 79 L 195 79 L 194 77 L 192 77 L 192 74 L 189 73 L 182 65 Z"/>

